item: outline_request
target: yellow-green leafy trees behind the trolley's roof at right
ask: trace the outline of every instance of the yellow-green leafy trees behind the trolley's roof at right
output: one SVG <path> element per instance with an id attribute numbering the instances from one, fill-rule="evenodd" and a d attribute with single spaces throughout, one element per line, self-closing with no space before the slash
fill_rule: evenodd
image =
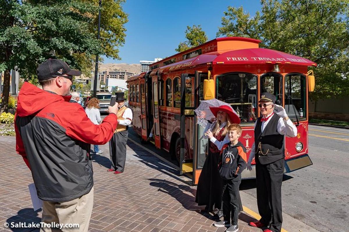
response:
<path id="1" fill-rule="evenodd" d="M 318 64 L 313 99 L 349 95 L 349 1 L 261 0 L 255 16 L 228 7 L 217 36 L 259 39 L 260 47 Z"/>

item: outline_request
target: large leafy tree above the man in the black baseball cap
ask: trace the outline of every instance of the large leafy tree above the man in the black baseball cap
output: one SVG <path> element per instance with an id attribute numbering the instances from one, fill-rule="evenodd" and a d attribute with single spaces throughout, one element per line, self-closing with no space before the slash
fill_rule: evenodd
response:
<path id="1" fill-rule="evenodd" d="M 0 0 L 0 71 L 5 71 L 2 111 L 7 111 L 10 70 L 35 82 L 38 64 L 59 58 L 87 76 L 95 54 L 120 59 L 125 42 L 125 0 L 103 0 L 97 40 L 98 0 Z"/>

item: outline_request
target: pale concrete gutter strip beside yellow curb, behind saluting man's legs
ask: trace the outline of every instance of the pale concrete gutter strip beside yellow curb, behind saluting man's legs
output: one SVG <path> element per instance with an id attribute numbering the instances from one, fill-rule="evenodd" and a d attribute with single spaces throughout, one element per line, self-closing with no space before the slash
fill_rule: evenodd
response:
<path id="1" fill-rule="evenodd" d="M 240 191 L 240 197 L 241 197 L 242 204 L 244 206 L 258 213 L 256 198 L 252 197 L 250 194 L 245 193 L 244 191 Z M 283 218 L 282 228 L 288 232 L 296 232 L 296 231 L 319 232 L 313 227 L 297 220 L 296 218 L 293 218 L 292 216 L 284 212 L 282 212 L 282 218 Z"/>

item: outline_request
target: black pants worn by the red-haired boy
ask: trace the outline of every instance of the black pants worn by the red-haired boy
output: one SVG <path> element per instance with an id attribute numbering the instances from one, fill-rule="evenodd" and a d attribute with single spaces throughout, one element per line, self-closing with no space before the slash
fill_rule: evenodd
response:
<path id="1" fill-rule="evenodd" d="M 224 221 L 227 221 L 232 225 L 238 224 L 239 211 L 241 205 L 239 186 L 241 183 L 241 176 L 225 181 L 223 180 L 223 217 Z M 230 216 L 231 214 L 231 216 Z"/>

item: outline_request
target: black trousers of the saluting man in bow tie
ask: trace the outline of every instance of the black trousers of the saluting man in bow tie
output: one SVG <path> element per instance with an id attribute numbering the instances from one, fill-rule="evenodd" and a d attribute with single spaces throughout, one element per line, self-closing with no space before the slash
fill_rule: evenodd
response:
<path id="1" fill-rule="evenodd" d="M 282 205 L 281 185 L 284 159 L 266 165 L 256 164 L 257 205 L 261 215 L 260 222 L 269 225 L 273 232 L 281 231 Z"/>

